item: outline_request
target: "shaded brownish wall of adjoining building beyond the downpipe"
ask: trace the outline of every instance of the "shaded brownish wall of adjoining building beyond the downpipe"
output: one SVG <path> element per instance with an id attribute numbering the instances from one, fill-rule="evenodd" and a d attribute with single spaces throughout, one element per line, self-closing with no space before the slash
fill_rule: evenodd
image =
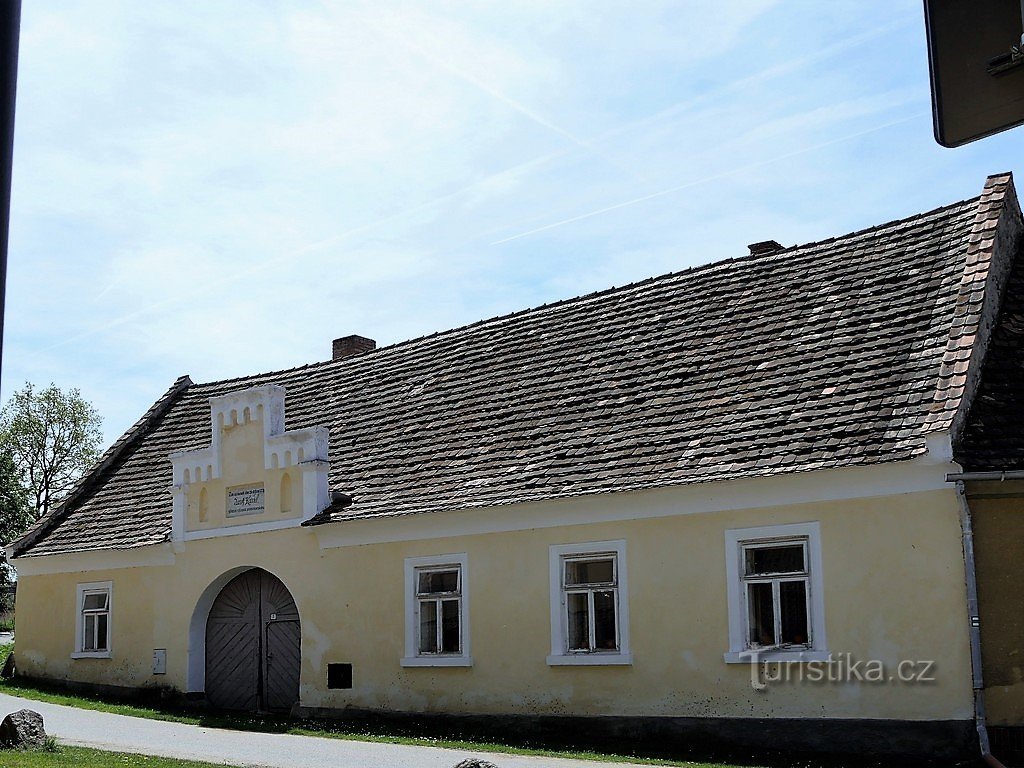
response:
<path id="1" fill-rule="evenodd" d="M 988 722 L 1024 725 L 1024 482 L 971 483 L 968 501 Z"/>

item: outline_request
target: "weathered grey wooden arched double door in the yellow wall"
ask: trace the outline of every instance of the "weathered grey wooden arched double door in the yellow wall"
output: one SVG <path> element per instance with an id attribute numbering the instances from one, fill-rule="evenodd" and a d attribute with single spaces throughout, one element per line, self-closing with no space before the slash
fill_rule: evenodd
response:
<path id="1" fill-rule="evenodd" d="M 299 700 L 299 611 L 272 573 L 251 568 L 220 591 L 206 622 L 206 696 L 225 710 L 288 711 Z"/>

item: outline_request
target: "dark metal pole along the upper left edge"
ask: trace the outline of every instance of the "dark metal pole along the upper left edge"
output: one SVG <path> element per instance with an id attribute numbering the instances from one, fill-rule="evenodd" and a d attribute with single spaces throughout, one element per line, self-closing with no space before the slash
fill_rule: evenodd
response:
<path id="1" fill-rule="evenodd" d="M 7 294 L 7 243 L 10 234 L 10 177 L 14 157 L 14 96 L 22 0 L 0 0 L 0 367 Z"/>

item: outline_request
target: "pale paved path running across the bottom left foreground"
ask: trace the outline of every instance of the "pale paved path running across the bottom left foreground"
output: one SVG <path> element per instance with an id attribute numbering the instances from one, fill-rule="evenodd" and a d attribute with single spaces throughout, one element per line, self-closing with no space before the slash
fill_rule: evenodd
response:
<path id="1" fill-rule="evenodd" d="M 468 757 L 488 760 L 498 768 L 626 768 L 628 765 L 204 728 L 0 693 L 0 717 L 25 708 L 42 715 L 46 732 L 61 743 L 260 768 L 452 768 Z"/>

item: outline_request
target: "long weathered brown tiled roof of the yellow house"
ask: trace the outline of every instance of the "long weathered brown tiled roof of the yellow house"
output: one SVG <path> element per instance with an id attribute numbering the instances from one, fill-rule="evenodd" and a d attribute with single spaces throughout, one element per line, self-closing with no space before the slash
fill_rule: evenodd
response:
<path id="1" fill-rule="evenodd" d="M 1016 206 L 1009 175 L 990 177 L 979 198 L 820 243 L 340 360 L 183 377 L 16 549 L 168 541 L 168 455 L 209 443 L 211 396 L 260 384 L 286 387 L 287 428 L 330 428 L 331 487 L 354 503 L 321 520 L 912 459 L 963 413 L 984 252 Z"/>

